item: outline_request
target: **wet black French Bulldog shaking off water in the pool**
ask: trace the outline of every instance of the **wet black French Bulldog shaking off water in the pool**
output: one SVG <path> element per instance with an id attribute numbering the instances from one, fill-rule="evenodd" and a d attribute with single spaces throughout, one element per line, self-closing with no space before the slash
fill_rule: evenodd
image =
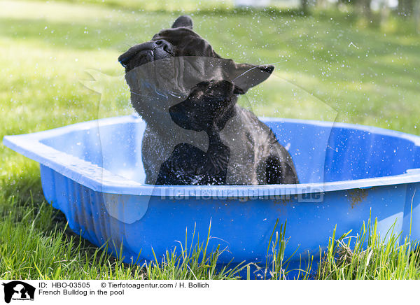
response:
<path id="1" fill-rule="evenodd" d="M 146 121 L 146 183 L 298 183 L 293 160 L 273 132 L 236 104 L 274 66 L 222 59 L 188 16 L 119 57 L 131 101 Z"/>

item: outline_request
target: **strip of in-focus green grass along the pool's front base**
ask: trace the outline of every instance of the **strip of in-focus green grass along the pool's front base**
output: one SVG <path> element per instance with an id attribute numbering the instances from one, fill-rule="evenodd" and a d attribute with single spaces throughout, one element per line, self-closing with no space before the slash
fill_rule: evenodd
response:
<path id="1" fill-rule="evenodd" d="M 162 258 L 138 266 L 112 257 L 104 248 L 92 246 L 67 229 L 62 213 L 50 205 L 36 204 L 33 198 L 18 204 L 15 197 L 0 208 L 1 279 L 149 279 L 200 280 L 262 278 L 300 279 L 419 279 L 418 243 L 400 242 L 392 228 L 386 236 L 377 232 L 377 221 L 363 223 L 356 236 L 351 232 L 339 239 L 335 230 L 328 248 L 321 251 L 318 268 L 311 270 L 316 258 L 302 261 L 294 272 L 286 259 L 286 224 L 276 226 L 267 245 L 265 264 L 239 264 L 218 267 L 225 249 L 209 252 L 209 234 L 200 242 L 180 243 Z M 199 237 L 199 236 L 197 236 Z M 200 238 L 197 238 L 200 240 Z M 352 240 L 353 239 L 353 240 Z M 293 257 L 292 257 L 293 258 Z M 251 271 L 252 270 L 252 271 Z M 244 272 L 246 271 L 246 276 Z"/>

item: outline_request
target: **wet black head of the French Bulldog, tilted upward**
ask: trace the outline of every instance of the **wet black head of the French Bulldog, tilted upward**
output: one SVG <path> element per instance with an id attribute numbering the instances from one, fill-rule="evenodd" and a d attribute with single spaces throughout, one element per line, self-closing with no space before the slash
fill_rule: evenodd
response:
<path id="1" fill-rule="evenodd" d="M 125 67 L 134 109 L 149 122 L 158 123 L 159 113 L 167 114 L 170 107 L 188 101 L 190 94 L 193 94 L 190 103 L 198 96 L 204 97 L 204 92 L 217 92 L 218 97 L 224 95 L 236 101 L 231 97 L 246 93 L 274 70 L 274 66 L 237 64 L 221 58 L 193 31 L 189 16 L 179 17 L 171 29 L 160 31 L 151 41 L 134 45 L 118 61 Z M 213 85 L 213 89 L 205 88 L 206 85 Z"/>

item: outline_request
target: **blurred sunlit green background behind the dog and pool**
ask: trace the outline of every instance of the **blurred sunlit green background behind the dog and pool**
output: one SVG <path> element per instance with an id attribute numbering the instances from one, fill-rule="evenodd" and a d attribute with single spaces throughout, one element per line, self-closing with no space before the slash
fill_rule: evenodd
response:
<path id="1" fill-rule="evenodd" d="M 258 115 L 420 135 L 419 1 L 253 2 L 0 1 L 0 138 L 131 113 L 118 55 L 186 13 L 222 57 L 276 63 L 274 76 L 241 99 Z M 38 164 L 4 146 L 0 157 L 0 215 L 42 202 Z M 4 219 L 0 254 L 10 256 Z M 15 221 L 17 231 L 25 225 Z M 0 276 L 16 268 L 4 262 Z"/>

